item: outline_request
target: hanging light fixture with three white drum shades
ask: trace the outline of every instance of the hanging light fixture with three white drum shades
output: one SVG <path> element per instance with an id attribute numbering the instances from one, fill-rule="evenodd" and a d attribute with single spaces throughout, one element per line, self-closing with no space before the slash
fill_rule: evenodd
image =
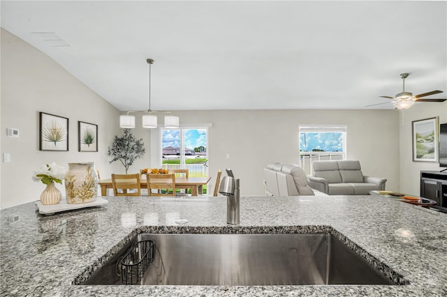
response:
<path id="1" fill-rule="evenodd" d="M 147 59 L 146 62 L 149 64 L 149 109 L 147 111 L 149 114 L 145 114 L 142 116 L 142 128 L 156 128 L 157 127 L 157 116 L 154 116 L 151 113 L 154 113 L 151 109 L 151 66 L 154 63 L 154 60 Z M 127 112 L 126 115 L 119 116 L 119 127 L 121 128 L 135 128 L 135 116 L 130 116 Z M 170 113 L 170 112 L 168 112 Z M 165 116 L 165 128 L 175 129 L 179 128 L 179 117 L 178 116 Z"/>

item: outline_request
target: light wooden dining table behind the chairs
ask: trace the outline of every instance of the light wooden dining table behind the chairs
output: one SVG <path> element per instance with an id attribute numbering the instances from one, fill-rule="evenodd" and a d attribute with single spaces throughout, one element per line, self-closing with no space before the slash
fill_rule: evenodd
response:
<path id="1" fill-rule="evenodd" d="M 203 185 L 206 185 L 211 179 L 211 176 L 193 176 L 193 177 L 175 177 L 175 185 L 182 189 L 191 189 L 191 196 L 203 194 Z M 112 189 L 112 178 L 102 179 L 98 183 L 101 186 L 101 196 L 107 196 L 107 189 Z M 140 187 L 147 188 L 147 179 L 140 179 Z"/>

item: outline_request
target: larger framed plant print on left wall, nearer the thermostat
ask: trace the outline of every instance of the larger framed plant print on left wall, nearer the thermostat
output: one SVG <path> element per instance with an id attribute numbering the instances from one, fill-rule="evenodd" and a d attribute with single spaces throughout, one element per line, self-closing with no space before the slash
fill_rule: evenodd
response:
<path id="1" fill-rule="evenodd" d="M 68 151 L 68 118 L 39 113 L 39 151 Z"/>

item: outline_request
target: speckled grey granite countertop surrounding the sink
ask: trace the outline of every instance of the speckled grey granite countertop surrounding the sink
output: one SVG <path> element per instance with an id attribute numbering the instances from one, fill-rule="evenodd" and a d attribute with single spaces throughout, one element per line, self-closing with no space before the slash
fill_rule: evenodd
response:
<path id="1" fill-rule="evenodd" d="M 226 197 L 106 197 L 109 203 L 50 216 L 34 202 L 1 210 L 0 296 L 447 296 L 447 215 L 373 196 L 241 197 L 227 227 Z M 179 226 L 175 220 L 188 222 Z M 151 227 L 147 227 L 151 226 Z M 188 233 L 329 226 L 406 285 L 85 286 L 75 280 L 138 231 Z"/>

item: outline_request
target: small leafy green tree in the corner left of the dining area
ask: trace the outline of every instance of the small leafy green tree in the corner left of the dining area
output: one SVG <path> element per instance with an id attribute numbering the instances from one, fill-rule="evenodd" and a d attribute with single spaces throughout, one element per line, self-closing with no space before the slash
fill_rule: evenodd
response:
<path id="1" fill-rule="evenodd" d="M 115 135 L 112 147 L 108 148 L 107 154 L 113 158 L 109 161 L 109 164 L 115 161 L 121 162 L 127 174 L 127 170 L 133 164 L 133 161 L 142 158 L 145 154 L 145 145 L 142 143 L 142 139 L 136 139 L 133 136 L 131 129 L 125 128 L 123 130 L 124 134 L 121 137 Z"/>

